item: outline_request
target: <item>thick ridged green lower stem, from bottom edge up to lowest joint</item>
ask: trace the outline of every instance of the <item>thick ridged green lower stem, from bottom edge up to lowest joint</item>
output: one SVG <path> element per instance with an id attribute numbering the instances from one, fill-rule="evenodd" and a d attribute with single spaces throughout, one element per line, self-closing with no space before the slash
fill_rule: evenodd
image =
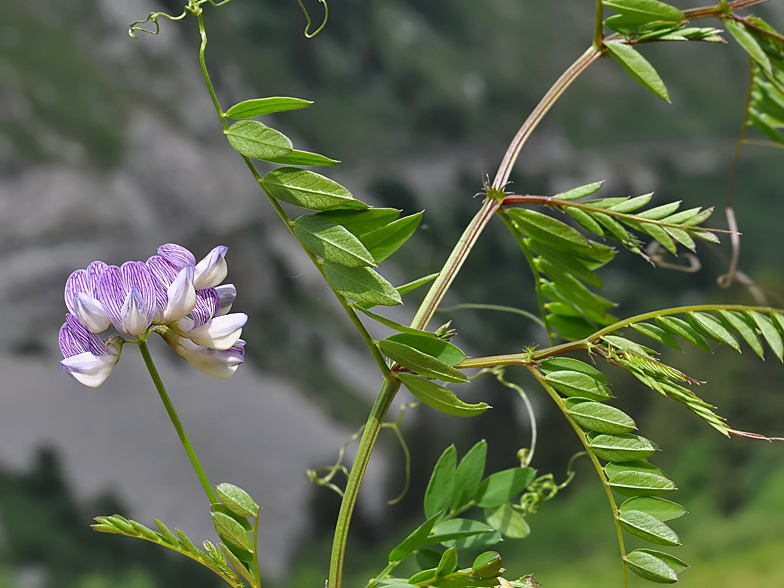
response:
<path id="1" fill-rule="evenodd" d="M 384 384 L 376 397 L 376 402 L 373 404 L 370 416 L 365 424 L 365 431 L 362 433 L 362 438 L 359 441 L 357 456 L 354 459 L 354 465 L 351 466 L 351 473 L 348 476 L 346 490 L 343 494 L 343 502 L 340 504 L 338 521 L 335 525 L 335 538 L 332 542 L 332 557 L 329 565 L 329 588 L 340 588 L 342 585 L 343 564 L 346 558 L 346 542 L 348 540 L 351 515 L 357 503 L 357 494 L 370 461 L 370 454 L 373 451 L 373 446 L 376 444 L 381 425 L 384 424 L 384 417 L 386 417 L 398 388 L 400 388 L 400 380 L 391 377 L 384 379 Z"/>

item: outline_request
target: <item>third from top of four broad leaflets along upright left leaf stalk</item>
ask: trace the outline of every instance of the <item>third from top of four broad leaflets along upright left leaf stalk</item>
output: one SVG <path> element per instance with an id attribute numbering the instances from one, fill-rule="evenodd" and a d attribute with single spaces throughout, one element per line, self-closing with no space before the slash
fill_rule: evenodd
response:
<path id="1" fill-rule="evenodd" d="M 301 216 L 294 221 L 293 230 L 302 246 L 319 257 L 346 267 L 376 265 L 362 242 L 331 220 L 318 215 Z"/>

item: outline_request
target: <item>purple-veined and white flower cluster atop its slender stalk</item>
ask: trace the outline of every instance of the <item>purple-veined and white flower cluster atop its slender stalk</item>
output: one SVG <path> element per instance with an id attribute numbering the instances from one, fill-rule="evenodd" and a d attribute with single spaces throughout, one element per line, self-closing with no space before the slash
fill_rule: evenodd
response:
<path id="1" fill-rule="evenodd" d="M 204 373 L 231 376 L 245 361 L 240 335 L 248 317 L 229 314 L 237 290 L 220 285 L 227 251 L 220 245 L 196 263 L 190 251 L 168 243 L 146 262 L 117 267 L 94 261 L 76 270 L 65 284 L 63 370 L 82 384 L 100 386 L 120 359 L 125 336 L 142 342 L 157 332 Z M 110 325 L 120 335 L 104 341 L 97 333 Z"/>

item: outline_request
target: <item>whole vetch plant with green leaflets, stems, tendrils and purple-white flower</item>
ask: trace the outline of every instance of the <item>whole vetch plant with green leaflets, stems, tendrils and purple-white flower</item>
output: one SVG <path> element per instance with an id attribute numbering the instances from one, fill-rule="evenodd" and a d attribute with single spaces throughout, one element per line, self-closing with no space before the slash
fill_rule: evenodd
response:
<path id="1" fill-rule="evenodd" d="M 218 7 L 228 0 L 188 0 L 178 16 L 153 13 L 131 26 L 131 36 L 135 37 L 148 22 L 155 29 L 147 32 L 157 33 L 162 17 L 174 21 L 189 16 L 196 19 L 201 36 L 202 73 L 229 145 L 244 159 L 274 212 L 290 230 L 293 242 L 302 247 L 323 276 L 383 376 L 367 423 L 349 440 L 360 438 L 351 467 L 342 464 L 344 446 L 326 475 L 308 472 L 314 482 L 342 496 L 329 588 L 343 584 L 349 524 L 381 429 L 392 429 L 408 455 L 399 428 L 406 408 L 422 403 L 457 417 L 482 414 L 490 408 L 486 402 L 467 402 L 449 385 L 483 376 L 495 377 L 517 393 L 531 415 L 531 445 L 519 452 L 520 466 L 486 475 L 488 446 L 484 441 L 462 457 L 454 446 L 448 447 L 425 491 L 424 522 L 389 553 L 387 562 L 382 562 L 381 571 L 367 586 L 534 585 L 532 576 L 506 578 L 501 555 L 488 548 L 497 546 L 504 537 L 527 537 L 527 517 L 555 497 L 572 479 L 573 472 L 570 463 L 566 481 L 558 484 L 552 474 L 537 476 L 530 466 L 536 446 L 536 422 L 527 393 L 505 377 L 504 370 L 511 365 L 528 369 L 572 426 L 584 449 L 578 456 L 587 455 L 592 462 L 615 521 L 624 584 L 629 570 L 656 583 L 674 583 L 686 570 L 686 563 L 660 550 L 680 545 L 669 522 L 686 511 L 662 498 L 676 489 L 675 482 L 649 461 L 658 452 L 656 443 L 637 434 L 631 416 L 608 404 L 613 394 L 602 370 L 608 364 L 625 370 L 722 435 L 771 441 L 733 429 L 714 406 L 696 395 L 694 385 L 699 382 L 663 363 L 656 348 L 681 349 L 687 344 L 710 352 L 717 345 L 727 345 L 741 351 L 743 344 L 763 357 L 767 346 L 770 353 L 782 360 L 784 310 L 705 304 L 619 319 L 610 314 L 616 305 L 596 292 L 603 286 L 597 270 L 613 260 L 618 246 L 653 263 L 658 256 L 648 253 L 645 240 L 673 255 L 683 248 L 694 251 L 700 240 L 717 242 L 721 233 L 729 234 L 736 244 L 738 235 L 731 209 L 727 212 L 730 230 L 721 231 L 704 225 L 712 208 L 681 210 L 680 202 L 649 206 L 652 194 L 595 197 L 602 188 L 601 182 L 554 195 L 509 192 L 509 177 L 523 145 L 553 104 L 601 58 L 611 57 L 642 86 L 669 100 L 664 82 L 639 51 L 649 43 L 725 43 L 728 36 L 737 40 L 750 59 L 746 123 L 770 141 L 784 143 L 779 131 L 784 127 L 784 36 L 757 17 L 739 14 L 763 1 L 721 0 L 714 6 L 682 11 L 658 0 L 597 0 L 591 46 L 555 82 L 517 132 L 495 177 L 481 186 L 483 202 L 441 271 L 397 287 L 382 276 L 379 266 L 411 237 L 422 213 L 400 218 L 397 209 L 375 208 L 357 200 L 345 187 L 306 169 L 336 165 L 336 160 L 297 150 L 288 137 L 256 120 L 271 113 L 306 108 L 310 102 L 288 97 L 253 98 L 226 110 L 220 104 L 205 58 L 204 17 L 208 5 Z M 695 26 L 708 18 L 718 19 L 723 28 Z M 322 23 L 319 30 L 323 26 Z M 303 209 L 308 212 L 303 214 Z M 531 295 L 538 303 L 540 316 L 533 318 L 542 326 L 548 344 L 532 345 L 522 352 L 468 358 L 453 342 L 456 331 L 451 324 L 435 331 L 429 331 L 428 326 L 480 235 L 495 217 L 519 246 L 534 278 Z M 220 484 L 213 490 L 168 401 L 145 344 L 150 333 L 159 333 L 194 366 L 210 375 L 227 377 L 244 359 L 239 336 L 247 317 L 227 314 L 236 292 L 231 286 L 219 285 L 226 275 L 225 248 L 214 249 L 199 263 L 190 252 L 176 245 L 164 245 L 158 253 L 147 262 L 128 262 L 121 267 L 94 262 L 69 278 L 69 314 L 60 335 L 65 356 L 63 369 L 80 382 L 97 386 L 108 377 L 124 344 L 140 348 L 210 501 L 215 529 L 223 543 L 205 541 L 201 549 L 160 521 L 155 521 L 158 531 L 153 531 L 120 515 L 98 517 L 94 528 L 178 551 L 232 586 L 258 587 L 259 506 L 236 486 Z M 734 266 L 735 262 L 730 276 L 739 275 Z M 427 284 L 429 290 L 409 325 L 383 316 L 382 310 L 376 308 L 399 305 L 409 292 Z M 377 321 L 396 334 L 377 341 L 363 320 Z M 97 334 L 110 324 L 120 335 L 103 341 Z M 466 373 L 467 370 L 473 371 Z M 386 422 L 401 386 L 419 403 L 404 405 L 396 421 Z M 344 487 L 336 483 L 340 472 L 347 476 Z M 630 535 L 656 549 L 629 551 L 626 545 Z M 409 558 L 419 571 L 396 576 L 400 564 L 411 561 Z"/>

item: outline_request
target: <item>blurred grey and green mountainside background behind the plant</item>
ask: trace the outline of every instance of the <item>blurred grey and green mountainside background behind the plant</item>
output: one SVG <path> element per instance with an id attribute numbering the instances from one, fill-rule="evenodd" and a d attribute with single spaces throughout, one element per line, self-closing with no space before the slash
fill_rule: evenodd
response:
<path id="1" fill-rule="evenodd" d="M 696 6 L 681 0 L 680 8 Z M 308 4 L 314 20 L 321 7 Z M 224 108 L 269 95 L 315 101 L 273 124 L 299 148 L 344 161 L 328 171 L 358 198 L 405 213 L 424 209 L 414 238 L 382 271 L 402 284 L 437 271 L 479 206 L 519 124 L 591 39 L 590 0 L 332 0 L 313 40 L 294 0 L 207 7 L 208 62 Z M 141 359 L 127 349 L 107 383 L 80 386 L 59 368 L 62 288 L 94 259 L 146 259 L 165 242 L 197 257 L 230 247 L 235 309 L 250 315 L 248 362 L 230 380 L 196 372 L 156 345 L 164 380 L 214 482 L 263 506 L 268 586 L 322 586 L 338 497 L 310 485 L 307 468 L 334 462 L 363 423 L 379 379 L 318 274 L 261 197 L 221 133 L 197 61 L 192 19 L 129 38 L 128 24 L 176 0 L 0 0 L 0 587 L 216 586 L 209 573 L 142 542 L 89 530 L 93 516 L 158 517 L 194 539 L 214 539 L 207 504 Z M 755 8 L 779 27 L 780 0 Z M 709 23 L 716 24 L 716 23 Z M 722 208 L 742 121 L 748 62 L 728 45 L 651 46 L 669 86 L 666 104 L 613 62 L 588 71 L 524 149 L 514 189 L 552 194 L 605 180 L 603 194 L 656 192 L 655 203 Z M 263 164 L 261 165 L 263 168 Z M 744 148 L 733 205 L 741 269 L 784 305 L 782 154 Z M 702 269 L 653 268 L 621 252 L 603 270 L 606 295 L 628 316 L 657 307 L 752 303 L 721 289 L 728 244 L 702 246 Z M 535 310 L 532 280 L 501 223 L 491 224 L 447 306 L 494 303 Z M 401 322 L 415 293 L 390 310 Z M 471 355 L 542 342 L 522 317 L 444 313 Z M 440 316 L 439 316 L 440 318 Z M 375 331 L 374 331 L 375 332 Z M 383 334 L 383 331 L 379 331 Z M 784 368 L 749 351 L 665 352 L 708 380 L 703 397 L 735 428 L 784 431 Z M 784 587 L 784 449 L 726 440 L 623 373 L 609 373 L 617 406 L 663 451 L 657 457 L 691 514 L 673 525 L 693 564 L 684 588 Z M 557 480 L 578 442 L 523 373 L 540 440 L 532 465 Z M 388 550 L 421 521 L 429 471 L 450 443 L 479 439 L 488 471 L 515 465 L 528 443 L 519 402 L 495 382 L 467 392 L 495 409 L 455 422 L 411 411 L 412 488 L 394 439 L 383 438 L 352 527 L 347 586 L 364 586 Z M 410 399 L 401 395 L 401 401 Z M 614 526 L 587 463 L 532 517 L 532 535 L 503 545 L 510 575 L 544 586 L 620 585 Z M 643 582 L 632 580 L 633 585 Z"/>

